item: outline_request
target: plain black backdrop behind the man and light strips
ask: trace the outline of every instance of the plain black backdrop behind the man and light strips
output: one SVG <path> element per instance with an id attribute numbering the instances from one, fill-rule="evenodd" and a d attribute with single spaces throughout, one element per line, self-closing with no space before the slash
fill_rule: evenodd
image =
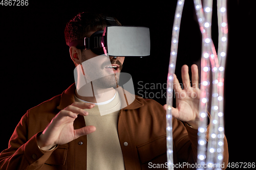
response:
<path id="1" fill-rule="evenodd" d="M 115 16 L 126 26 L 149 27 L 151 56 L 125 58 L 123 72 L 133 77 L 135 92 L 152 92 L 160 104 L 166 86 L 143 89 L 141 85 L 166 83 L 170 40 L 177 1 L 31 1 L 28 6 L 0 6 L 1 115 L 0 151 L 8 148 L 26 111 L 60 94 L 73 82 L 75 68 L 65 43 L 66 23 L 78 12 Z M 201 35 L 192 0 L 186 0 L 180 30 L 176 75 L 181 82 L 183 64 L 200 66 Z M 225 134 L 229 162 L 255 162 L 255 44 L 252 1 L 228 1 L 229 45 L 225 74 Z M 212 39 L 218 48 L 216 1 Z M 138 84 L 138 82 L 140 82 Z M 152 87 L 154 88 L 154 87 Z"/>

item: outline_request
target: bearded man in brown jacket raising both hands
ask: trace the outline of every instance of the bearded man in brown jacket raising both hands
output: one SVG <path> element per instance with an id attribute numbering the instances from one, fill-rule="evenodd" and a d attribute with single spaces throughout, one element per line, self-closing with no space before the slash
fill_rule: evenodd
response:
<path id="1" fill-rule="evenodd" d="M 160 164 L 166 168 L 166 105 L 139 96 L 129 102 L 132 94 L 118 86 L 124 57 L 98 56 L 73 43 L 107 25 L 102 15 L 92 13 L 79 13 L 67 24 L 65 37 L 71 59 L 87 83 L 79 86 L 82 80 L 78 76 L 77 83 L 62 94 L 28 110 L 9 148 L 0 155 L 1 169 L 151 169 Z M 94 59 L 96 62 L 84 64 Z M 174 77 L 174 163 L 195 164 L 198 68 L 191 66 L 193 87 L 188 67 L 184 65 L 181 71 L 184 89 Z M 87 95 L 90 90 L 91 96 Z M 195 93 L 197 98 L 192 98 Z M 226 167 L 226 138 L 224 148 Z"/>

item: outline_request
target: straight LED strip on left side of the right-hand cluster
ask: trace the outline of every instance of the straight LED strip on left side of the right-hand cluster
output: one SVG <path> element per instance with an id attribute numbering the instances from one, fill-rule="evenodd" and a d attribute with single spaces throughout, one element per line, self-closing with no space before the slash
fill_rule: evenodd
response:
<path id="1" fill-rule="evenodd" d="M 204 7 L 206 18 L 204 16 L 201 0 L 194 0 L 198 23 L 202 33 L 202 56 L 201 56 L 201 85 L 200 85 L 200 106 L 199 106 L 199 122 L 198 122 L 198 157 L 197 163 L 200 167 L 206 163 L 206 131 L 207 131 L 207 106 L 209 103 L 209 87 L 210 87 L 210 60 L 214 57 L 212 52 L 211 39 L 211 13 L 212 7 Z"/>

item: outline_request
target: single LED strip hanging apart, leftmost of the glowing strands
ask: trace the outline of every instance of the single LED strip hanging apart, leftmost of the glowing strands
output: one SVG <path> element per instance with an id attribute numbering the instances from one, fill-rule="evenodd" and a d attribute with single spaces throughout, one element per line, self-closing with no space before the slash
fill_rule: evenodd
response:
<path id="1" fill-rule="evenodd" d="M 174 169 L 174 161 L 173 161 L 173 115 L 172 115 L 172 107 L 173 107 L 173 79 L 174 72 L 176 67 L 176 59 L 178 52 L 178 40 L 180 33 L 180 21 L 182 10 L 184 6 L 185 0 L 179 0 L 177 2 L 174 25 L 173 25 L 173 33 L 172 33 L 172 44 L 170 48 L 170 61 L 169 61 L 169 69 L 168 69 L 168 77 L 167 77 L 167 110 L 166 110 L 166 147 L 167 147 L 167 162 L 168 162 L 168 170 Z"/>

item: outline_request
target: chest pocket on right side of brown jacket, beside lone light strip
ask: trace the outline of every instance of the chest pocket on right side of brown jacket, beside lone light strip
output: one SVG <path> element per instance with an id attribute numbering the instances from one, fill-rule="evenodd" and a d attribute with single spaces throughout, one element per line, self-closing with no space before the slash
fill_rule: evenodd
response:
<path id="1" fill-rule="evenodd" d="M 159 136 L 153 140 L 138 145 L 137 150 L 142 164 L 151 161 L 162 154 L 166 154 L 166 135 Z"/>

